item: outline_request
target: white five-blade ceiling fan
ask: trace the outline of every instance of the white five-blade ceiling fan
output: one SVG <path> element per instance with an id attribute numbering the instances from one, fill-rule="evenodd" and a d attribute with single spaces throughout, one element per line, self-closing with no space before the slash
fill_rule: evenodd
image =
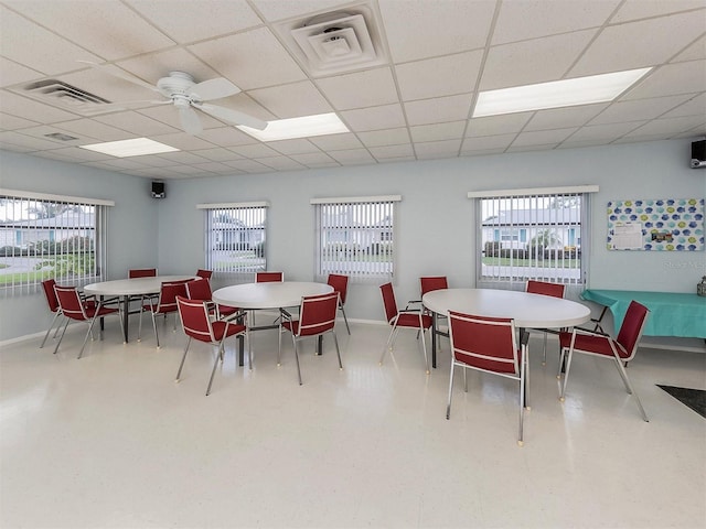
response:
<path id="1" fill-rule="evenodd" d="M 87 64 L 90 67 L 97 68 L 114 77 L 118 77 L 127 80 L 128 83 L 132 83 L 162 95 L 167 99 L 157 101 L 125 101 L 113 104 L 113 106 L 121 108 L 136 104 L 142 105 L 145 102 L 152 105 L 173 105 L 179 111 L 182 129 L 189 134 L 199 134 L 203 131 L 203 126 L 196 110 L 201 110 L 202 112 L 208 114 L 214 118 L 222 119 L 229 123 L 244 125 L 253 129 L 264 130 L 267 127 L 267 121 L 263 121 L 261 119 L 248 114 L 205 102 L 213 99 L 233 96 L 240 91 L 237 86 L 225 77 L 216 77 L 202 83 L 195 83 L 194 78 L 184 72 L 170 72 L 169 76 L 159 79 L 157 85 L 150 85 L 149 83 L 121 71 L 114 71 L 104 65 L 88 61 L 78 62 Z M 106 106 L 104 105 L 103 108 L 106 108 Z"/>

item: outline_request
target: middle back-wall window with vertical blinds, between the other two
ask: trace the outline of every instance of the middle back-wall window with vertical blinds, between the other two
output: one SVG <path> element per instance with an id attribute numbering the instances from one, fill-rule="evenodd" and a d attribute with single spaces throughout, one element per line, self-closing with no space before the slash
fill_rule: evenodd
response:
<path id="1" fill-rule="evenodd" d="M 317 198 L 314 279 L 391 280 L 395 268 L 395 203 L 402 197 Z"/>

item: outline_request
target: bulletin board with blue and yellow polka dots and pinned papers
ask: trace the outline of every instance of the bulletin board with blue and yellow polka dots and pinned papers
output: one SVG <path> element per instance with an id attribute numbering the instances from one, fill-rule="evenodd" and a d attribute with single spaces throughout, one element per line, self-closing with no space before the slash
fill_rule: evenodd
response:
<path id="1" fill-rule="evenodd" d="M 608 203 L 609 250 L 704 250 L 704 198 Z"/>

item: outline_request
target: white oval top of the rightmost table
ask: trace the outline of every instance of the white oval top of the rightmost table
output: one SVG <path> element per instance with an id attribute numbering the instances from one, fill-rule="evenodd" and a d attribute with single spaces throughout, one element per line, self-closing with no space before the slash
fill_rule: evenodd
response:
<path id="1" fill-rule="evenodd" d="M 512 290 L 435 290 L 427 292 L 421 301 L 438 314 L 451 310 L 479 316 L 511 317 L 517 327 L 570 327 L 591 319 L 590 309 L 575 301 Z"/>

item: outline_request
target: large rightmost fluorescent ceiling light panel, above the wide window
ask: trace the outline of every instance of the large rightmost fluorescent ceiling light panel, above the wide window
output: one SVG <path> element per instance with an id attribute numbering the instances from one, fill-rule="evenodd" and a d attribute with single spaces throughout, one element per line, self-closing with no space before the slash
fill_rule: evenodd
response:
<path id="1" fill-rule="evenodd" d="M 474 118 L 612 101 L 652 68 L 576 77 L 537 85 L 481 91 Z"/>

